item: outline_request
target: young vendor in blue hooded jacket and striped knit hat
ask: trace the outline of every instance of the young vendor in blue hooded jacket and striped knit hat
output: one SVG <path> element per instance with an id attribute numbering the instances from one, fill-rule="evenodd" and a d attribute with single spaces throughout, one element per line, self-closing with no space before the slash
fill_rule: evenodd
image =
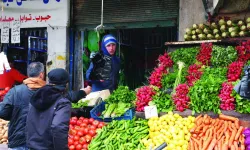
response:
<path id="1" fill-rule="evenodd" d="M 92 83 L 92 92 L 109 89 L 112 93 L 118 86 L 120 59 L 115 56 L 117 40 L 113 35 L 105 35 L 101 43 L 101 52 L 93 58 L 86 73 Z"/>

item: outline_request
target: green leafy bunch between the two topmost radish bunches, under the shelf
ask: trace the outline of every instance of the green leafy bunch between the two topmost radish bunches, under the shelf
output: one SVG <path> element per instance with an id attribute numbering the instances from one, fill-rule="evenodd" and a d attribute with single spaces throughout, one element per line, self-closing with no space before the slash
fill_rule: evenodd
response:
<path id="1" fill-rule="evenodd" d="M 237 51 L 233 46 L 213 46 L 211 63 L 214 67 L 227 67 L 237 59 Z"/>

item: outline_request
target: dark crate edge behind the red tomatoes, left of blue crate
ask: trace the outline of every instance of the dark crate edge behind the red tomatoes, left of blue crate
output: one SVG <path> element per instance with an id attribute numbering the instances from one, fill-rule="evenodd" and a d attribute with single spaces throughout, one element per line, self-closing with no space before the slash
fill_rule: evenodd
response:
<path id="1" fill-rule="evenodd" d="M 90 111 L 94 106 L 85 106 L 82 108 L 71 108 L 71 117 L 85 117 L 90 118 Z"/>

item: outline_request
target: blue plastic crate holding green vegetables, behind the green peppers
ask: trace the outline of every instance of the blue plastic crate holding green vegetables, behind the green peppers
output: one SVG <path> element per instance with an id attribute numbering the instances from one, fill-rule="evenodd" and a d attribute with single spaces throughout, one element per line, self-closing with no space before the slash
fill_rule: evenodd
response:
<path id="1" fill-rule="evenodd" d="M 132 120 L 135 115 L 134 109 L 129 109 L 121 117 L 103 118 L 100 115 L 104 110 L 105 110 L 105 102 L 102 102 L 90 111 L 91 118 L 94 118 L 95 120 L 98 121 L 111 122 L 112 120 Z"/>

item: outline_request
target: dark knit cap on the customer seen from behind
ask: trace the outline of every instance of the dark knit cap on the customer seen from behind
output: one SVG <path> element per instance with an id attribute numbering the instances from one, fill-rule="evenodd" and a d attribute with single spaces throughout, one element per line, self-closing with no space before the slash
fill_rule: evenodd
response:
<path id="1" fill-rule="evenodd" d="M 62 68 L 53 69 L 48 73 L 49 83 L 65 85 L 69 82 L 69 74 Z"/>

